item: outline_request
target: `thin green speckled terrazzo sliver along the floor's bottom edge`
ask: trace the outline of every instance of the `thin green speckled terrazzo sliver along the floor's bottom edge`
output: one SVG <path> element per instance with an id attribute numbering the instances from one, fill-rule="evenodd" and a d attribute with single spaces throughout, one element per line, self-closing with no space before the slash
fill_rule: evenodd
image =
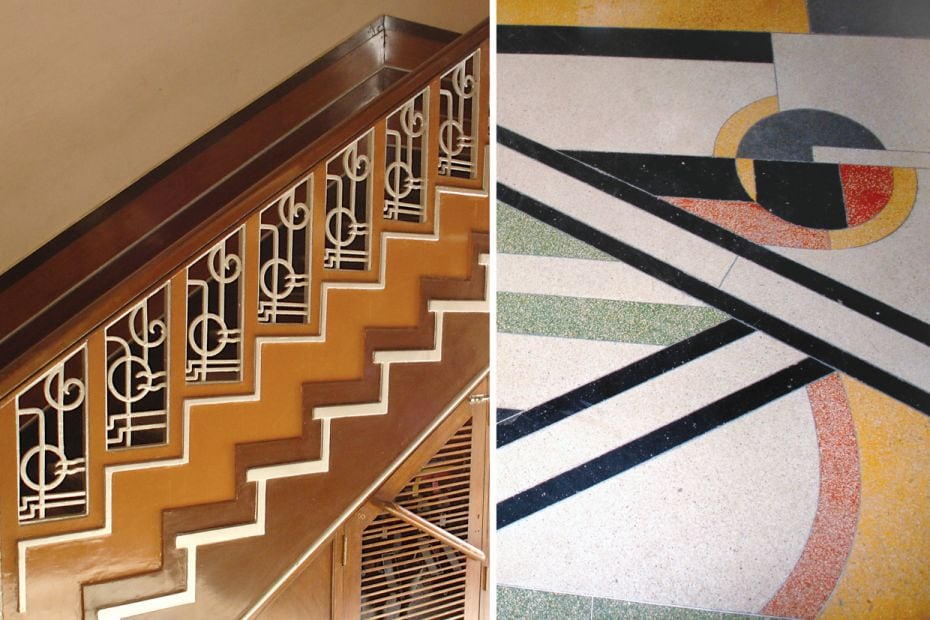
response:
<path id="1" fill-rule="evenodd" d="M 769 616 L 647 605 L 498 586 L 499 620 L 753 620 Z"/>

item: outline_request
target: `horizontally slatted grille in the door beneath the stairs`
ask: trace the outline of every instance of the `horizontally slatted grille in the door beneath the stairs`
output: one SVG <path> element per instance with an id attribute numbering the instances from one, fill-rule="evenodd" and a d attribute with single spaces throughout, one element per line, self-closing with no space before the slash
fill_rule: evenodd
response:
<path id="1" fill-rule="evenodd" d="M 468 539 L 472 423 L 469 420 L 410 480 L 396 503 Z M 466 557 L 381 514 L 362 533 L 362 618 L 464 618 Z"/>

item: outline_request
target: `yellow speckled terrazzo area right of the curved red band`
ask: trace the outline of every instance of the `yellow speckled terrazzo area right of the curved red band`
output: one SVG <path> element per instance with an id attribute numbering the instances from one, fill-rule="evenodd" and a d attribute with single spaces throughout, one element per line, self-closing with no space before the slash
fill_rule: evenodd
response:
<path id="1" fill-rule="evenodd" d="M 860 451 L 859 526 L 820 618 L 930 617 L 930 418 L 843 378 Z"/>

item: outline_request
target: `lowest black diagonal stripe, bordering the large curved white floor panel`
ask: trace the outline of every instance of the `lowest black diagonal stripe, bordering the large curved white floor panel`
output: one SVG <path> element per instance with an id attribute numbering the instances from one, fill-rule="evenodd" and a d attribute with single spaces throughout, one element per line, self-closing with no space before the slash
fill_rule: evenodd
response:
<path id="1" fill-rule="evenodd" d="M 807 358 L 497 504 L 497 529 L 677 448 L 830 374 Z"/>

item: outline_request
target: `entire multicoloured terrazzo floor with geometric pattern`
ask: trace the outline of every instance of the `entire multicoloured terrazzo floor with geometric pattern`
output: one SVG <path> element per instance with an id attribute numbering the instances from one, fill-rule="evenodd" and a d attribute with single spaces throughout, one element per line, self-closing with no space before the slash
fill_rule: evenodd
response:
<path id="1" fill-rule="evenodd" d="M 930 10 L 497 3 L 499 618 L 930 618 Z"/>

